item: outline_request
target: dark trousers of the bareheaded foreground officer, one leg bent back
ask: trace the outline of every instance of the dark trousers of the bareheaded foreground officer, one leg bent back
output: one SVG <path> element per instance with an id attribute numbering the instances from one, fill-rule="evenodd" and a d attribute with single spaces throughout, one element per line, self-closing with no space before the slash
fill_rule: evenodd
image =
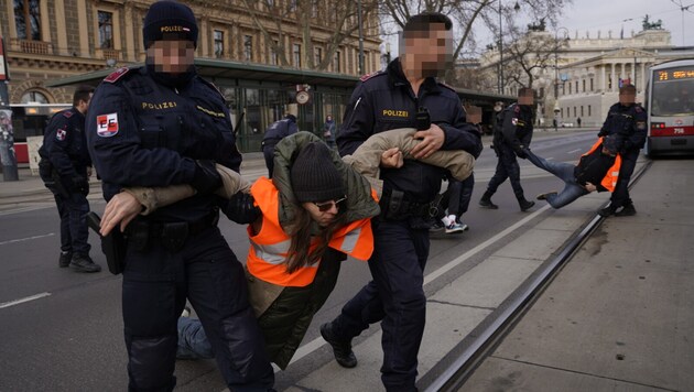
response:
<path id="1" fill-rule="evenodd" d="M 373 254 L 369 282 L 333 322 L 333 330 L 349 340 L 381 322 L 387 391 L 414 391 L 418 353 L 426 318 L 424 266 L 429 258 L 429 229 L 412 229 L 406 220 L 371 220 Z"/>

